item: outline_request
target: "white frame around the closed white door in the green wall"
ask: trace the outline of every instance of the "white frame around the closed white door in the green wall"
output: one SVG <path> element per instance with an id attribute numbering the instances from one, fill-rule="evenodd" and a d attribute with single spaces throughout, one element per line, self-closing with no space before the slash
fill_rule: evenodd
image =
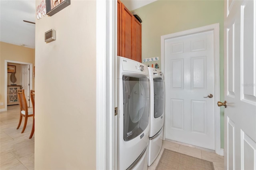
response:
<path id="1" fill-rule="evenodd" d="M 171 38 L 177 38 L 182 36 L 188 36 L 191 34 L 197 34 L 200 32 L 214 32 L 214 103 L 220 101 L 220 24 L 211 24 L 191 30 L 185 30 L 182 32 L 176 32 L 161 36 L 161 66 L 163 73 L 165 72 L 165 53 L 164 42 Z M 214 105 L 214 131 L 215 131 L 215 152 L 219 155 L 224 155 L 224 149 L 220 147 L 220 108 Z M 165 133 L 164 137 L 165 139 Z"/>

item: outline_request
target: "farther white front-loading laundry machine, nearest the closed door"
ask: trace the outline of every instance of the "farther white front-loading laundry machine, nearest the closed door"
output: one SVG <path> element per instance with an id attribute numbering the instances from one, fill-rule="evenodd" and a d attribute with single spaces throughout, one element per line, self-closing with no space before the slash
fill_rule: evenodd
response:
<path id="1" fill-rule="evenodd" d="M 164 127 L 164 76 L 159 69 L 148 67 L 150 79 L 150 132 L 148 166 L 158 156 L 163 142 Z"/>

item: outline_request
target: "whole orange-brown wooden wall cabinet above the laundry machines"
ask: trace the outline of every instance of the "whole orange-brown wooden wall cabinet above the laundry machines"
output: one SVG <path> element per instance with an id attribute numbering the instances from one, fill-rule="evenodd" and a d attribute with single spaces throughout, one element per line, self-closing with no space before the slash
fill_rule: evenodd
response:
<path id="1" fill-rule="evenodd" d="M 141 23 L 118 0 L 117 55 L 141 63 Z"/>

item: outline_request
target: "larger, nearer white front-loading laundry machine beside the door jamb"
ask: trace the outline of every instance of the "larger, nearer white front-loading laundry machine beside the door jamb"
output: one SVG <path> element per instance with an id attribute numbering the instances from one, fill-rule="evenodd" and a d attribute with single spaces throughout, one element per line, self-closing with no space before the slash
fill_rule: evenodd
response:
<path id="1" fill-rule="evenodd" d="M 148 168 L 150 81 L 148 68 L 117 57 L 117 169 Z"/>

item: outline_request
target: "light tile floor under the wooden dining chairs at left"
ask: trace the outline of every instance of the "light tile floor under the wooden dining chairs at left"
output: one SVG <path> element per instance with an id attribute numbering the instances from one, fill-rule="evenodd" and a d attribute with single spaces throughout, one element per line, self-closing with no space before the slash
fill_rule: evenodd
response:
<path id="1" fill-rule="evenodd" d="M 19 129 L 20 105 L 8 106 L 0 112 L 0 169 L 1 170 L 34 170 L 34 136 L 29 139 L 32 128 L 32 117 L 24 133 L 21 133 L 24 118 Z"/>

